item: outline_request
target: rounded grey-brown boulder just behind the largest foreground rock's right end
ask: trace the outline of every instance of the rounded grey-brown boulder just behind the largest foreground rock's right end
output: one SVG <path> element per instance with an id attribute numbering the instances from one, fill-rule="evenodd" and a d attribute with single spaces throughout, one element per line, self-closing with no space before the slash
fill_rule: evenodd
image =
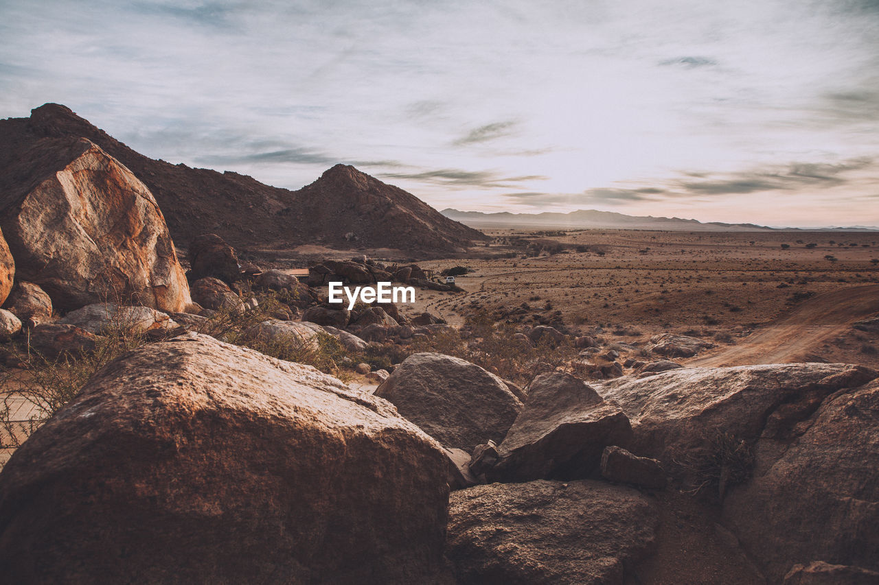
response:
<path id="1" fill-rule="evenodd" d="M 375 395 L 441 444 L 464 451 L 489 439 L 499 443 L 522 408 L 504 380 L 441 353 L 404 359 Z"/>

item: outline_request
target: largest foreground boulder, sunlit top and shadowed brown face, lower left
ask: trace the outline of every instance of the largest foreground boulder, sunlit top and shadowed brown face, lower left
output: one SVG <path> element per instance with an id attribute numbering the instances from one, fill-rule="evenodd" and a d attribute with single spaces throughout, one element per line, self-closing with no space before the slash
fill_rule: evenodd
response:
<path id="1" fill-rule="evenodd" d="M 446 456 L 388 402 L 192 334 L 91 379 L 0 473 L 9 582 L 434 583 Z"/>

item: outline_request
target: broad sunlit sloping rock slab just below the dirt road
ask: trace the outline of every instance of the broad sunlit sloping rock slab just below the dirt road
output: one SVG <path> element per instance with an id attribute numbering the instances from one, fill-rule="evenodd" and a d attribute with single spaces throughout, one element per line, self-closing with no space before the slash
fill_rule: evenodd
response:
<path id="1" fill-rule="evenodd" d="M 596 389 L 628 415 L 635 432 L 631 450 L 669 464 L 701 447 L 707 432 L 753 441 L 767 425 L 803 420 L 828 394 L 876 376 L 860 365 L 741 365 L 621 378 Z"/>

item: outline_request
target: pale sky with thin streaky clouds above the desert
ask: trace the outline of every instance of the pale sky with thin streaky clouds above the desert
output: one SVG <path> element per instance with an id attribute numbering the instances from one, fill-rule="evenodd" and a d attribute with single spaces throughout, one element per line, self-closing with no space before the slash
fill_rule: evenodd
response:
<path id="1" fill-rule="evenodd" d="M 879 226 L 879 0 L 0 0 L 0 118 L 437 209 Z"/>

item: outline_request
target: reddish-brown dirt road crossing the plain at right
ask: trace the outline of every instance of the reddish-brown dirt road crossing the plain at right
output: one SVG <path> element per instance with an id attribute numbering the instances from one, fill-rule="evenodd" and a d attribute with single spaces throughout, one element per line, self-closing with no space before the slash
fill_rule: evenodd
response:
<path id="1" fill-rule="evenodd" d="M 778 321 L 720 353 L 687 366 L 779 364 L 819 353 L 821 343 L 840 336 L 854 321 L 879 314 L 879 285 L 852 286 L 806 300 Z M 808 360 L 807 360 L 808 361 Z"/>

